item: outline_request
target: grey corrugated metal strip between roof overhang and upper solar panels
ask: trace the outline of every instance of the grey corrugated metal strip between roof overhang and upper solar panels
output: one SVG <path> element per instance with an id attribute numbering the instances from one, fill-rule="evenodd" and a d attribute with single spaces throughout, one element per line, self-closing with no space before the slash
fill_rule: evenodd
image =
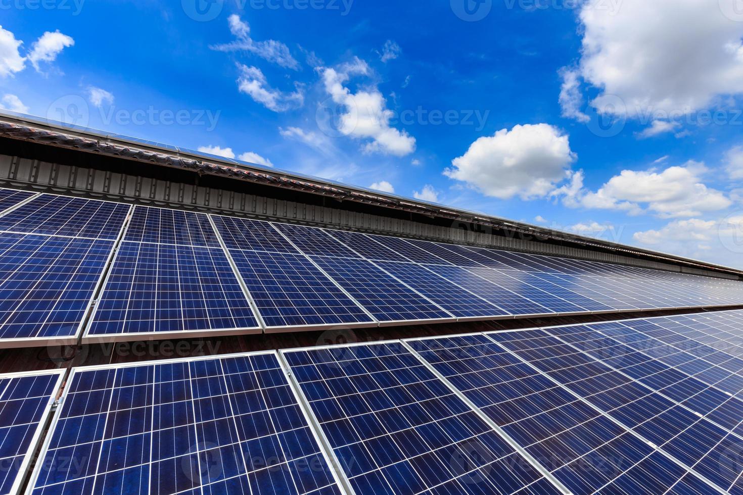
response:
<path id="1" fill-rule="evenodd" d="M 53 163 L 27 160 L 0 155 L 0 185 L 22 189 L 51 187 L 57 192 L 72 194 L 91 194 L 111 200 L 132 203 L 156 204 L 175 208 L 197 208 L 215 212 L 230 212 L 267 218 L 270 220 L 289 220 L 330 226 L 337 229 L 352 229 L 403 237 L 418 237 L 443 240 L 454 243 L 469 243 L 516 251 L 535 252 L 568 258 L 606 261 L 644 268 L 664 269 L 681 272 L 680 266 L 641 260 L 608 252 L 596 252 L 570 246 L 540 243 L 539 239 L 502 237 L 490 232 L 472 232 L 468 225 L 458 222 L 450 227 L 431 226 L 412 220 L 383 217 L 381 215 L 349 212 L 345 209 L 331 209 L 288 200 L 275 200 L 234 191 L 221 191 L 183 183 L 170 183 L 134 175 L 114 174 L 91 168 L 71 167 Z M 716 272 L 684 267 L 684 272 L 696 275 L 710 275 L 736 279 Z"/>

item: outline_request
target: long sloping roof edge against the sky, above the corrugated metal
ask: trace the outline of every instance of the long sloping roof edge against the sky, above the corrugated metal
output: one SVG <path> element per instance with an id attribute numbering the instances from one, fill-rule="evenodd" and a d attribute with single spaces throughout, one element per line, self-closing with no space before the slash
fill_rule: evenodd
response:
<path id="1" fill-rule="evenodd" d="M 386 209 L 423 214 L 428 217 L 473 223 L 492 229 L 505 229 L 517 234 L 544 238 L 558 243 L 577 244 L 584 249 L 603 249 L 618 255 L 629 255 L 663 263 L 673 263 L 694 269 L 706 269 L 730 275 L 743 276 L 743 270 L 733 269 L 701 260 L 682 258 L 650 249 L 641 249 L 599 240 L 592 237 L 574 235 L 542 226 L 534 226 L 466 209 L 456 209 L 424 200 L 373 191 L 345 183 L 334 182 L 269 168 L 264 165 L 247 163 L 230 158 L 217 157 L 186 148 L 178 148 L 159 142 L 140 140 L 120 134 L 107 134 L 91 128 L 67 125 L 48 119 L 28 117 L 22 114 L 0 112 L 0 137 L 12 140 L 35 142 L 69 150 L 99 154 L 108 157 L 150 163 L 161 167 L 180 168 L 201 175 L 214 175 L 232 180 L 272 186 L 279 189 L 302 191 L 332 197 L 342 201 L 366 203 Z"/>

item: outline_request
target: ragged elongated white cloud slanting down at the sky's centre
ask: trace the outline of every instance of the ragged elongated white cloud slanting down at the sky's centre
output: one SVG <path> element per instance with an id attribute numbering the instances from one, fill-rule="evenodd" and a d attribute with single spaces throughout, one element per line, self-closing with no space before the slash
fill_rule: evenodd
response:
<path id="1" fill-rule="evenodd" d="M 351 76 L 368 75 L 369 72 L 369 65 L 358 58 L 337 68 L 322 69 L 325 91 L 345 111 L 340 115 L 340 134 L 371 140 L 363 146 L 367 153 L 378 152 L 397 157 L 411 154 L 415 151 L 415 138 L 406 131 L 390 127 L 393 113 L 386 108 L 386 99 L 376 86 L 360 89 L 355 94 L 344 86 Z"/>

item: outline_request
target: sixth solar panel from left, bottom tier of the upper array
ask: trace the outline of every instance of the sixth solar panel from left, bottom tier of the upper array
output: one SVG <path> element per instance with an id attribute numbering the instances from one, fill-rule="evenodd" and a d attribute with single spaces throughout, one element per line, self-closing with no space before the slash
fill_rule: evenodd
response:
<path id="1" fill-rule="evenodd" d="M 504 309 L 504 311 L 509 312 L 511 315 L 523 317 L 526 315 L 555 314 L 552 309 L 536 304 L 534 301 L 531 301 L 531 299 L 516 294 L 516 292 L 504 289 L 501 286 L 496 285 L 496 283 L 478 277 L 478 275 L 473 272 L 468 272 L 460 266 L 424 265 L 424 267 L 431 272 L 434 272 L 436 275 L 446 278 L 447 281 L 455 283 L 456 285 L 473 292 L 473 294 L 484 298 L 486 301 L 496 304 L 499 308 Z"/>

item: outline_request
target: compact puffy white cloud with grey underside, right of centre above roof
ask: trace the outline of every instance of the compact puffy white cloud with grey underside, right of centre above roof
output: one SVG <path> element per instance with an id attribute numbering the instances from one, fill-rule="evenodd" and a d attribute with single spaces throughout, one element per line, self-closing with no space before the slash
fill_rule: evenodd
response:
<path id="1" fill-rule="evenodd" d="M 568 136 L 548 124 L 516 125 L 481 137 L 444 175 L 487 196 L 508 200 L 545 197 L 565 179 L 576 155 Z"/>

